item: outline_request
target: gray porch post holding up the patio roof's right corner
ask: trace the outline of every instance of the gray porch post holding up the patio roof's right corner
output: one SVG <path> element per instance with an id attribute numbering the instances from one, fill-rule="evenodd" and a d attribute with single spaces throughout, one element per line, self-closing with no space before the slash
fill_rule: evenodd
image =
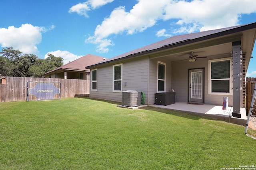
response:
<path id="1" fill-rule="evenodd" d="M 241 99 L 241 58 L 240 58 L 240 51 L 241 51 L 241 41 L 232 42 L 233 46 L 233 117 L 241 118 L 240 113 L 240 99 Z"/>

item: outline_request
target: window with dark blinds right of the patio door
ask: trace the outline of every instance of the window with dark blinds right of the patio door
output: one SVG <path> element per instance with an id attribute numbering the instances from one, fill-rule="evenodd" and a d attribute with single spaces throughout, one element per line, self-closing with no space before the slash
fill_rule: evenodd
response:
<path id="1" fill-rule="evenodd" d="M 214 93 L 231 93 L 230 79 L 230 59 L 216 59 L 209 61 L 209 92 Z"/>

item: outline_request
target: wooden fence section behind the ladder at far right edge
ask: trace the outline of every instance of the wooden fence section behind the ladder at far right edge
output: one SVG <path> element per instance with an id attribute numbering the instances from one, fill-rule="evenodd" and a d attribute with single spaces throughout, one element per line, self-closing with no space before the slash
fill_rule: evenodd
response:
<path id="1" fill-rule="evenodd" d="M 256 83 L 256 78 L 254 77 L 246 77 L 246 115 L 248 115 L 248 111 L 250 110 L 250 106 L 252 103 L 252 95 L 254 93 L 254 87 Z M 254 103 L 253 112 L 256 112 L 256 101 Z"/>

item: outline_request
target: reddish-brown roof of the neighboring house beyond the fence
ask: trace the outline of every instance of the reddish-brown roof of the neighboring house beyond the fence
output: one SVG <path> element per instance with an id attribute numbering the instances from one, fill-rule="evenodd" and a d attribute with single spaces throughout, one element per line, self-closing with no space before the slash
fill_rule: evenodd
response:
<path id="1" fill-rule="evenodd" d="M 56 71 L 61 71 L 61 70 L 69 70 L 69 71 L 84 71 L 84 72 L 89 72 L 90 69 L 86 69 L 85 67 L 88 65 L 92 65 L 94 63 L 98 63 L 100 61 L 104 61 L 104 57 L 99 57 L 97 55 L 91 55 L 87 54 L 84 55 L 83 57 L 80 57 L 74 61 L 71 61 L 65 65 L 62 65 L 52 71 L 49 71 L 48 73 L 45 73 L 44 75 L 56 72 Z"/>

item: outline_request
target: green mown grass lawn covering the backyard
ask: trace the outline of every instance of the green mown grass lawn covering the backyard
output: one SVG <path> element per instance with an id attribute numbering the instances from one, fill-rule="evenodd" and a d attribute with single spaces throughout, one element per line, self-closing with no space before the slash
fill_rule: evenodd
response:
<path id="1" fill-rule="evenodd" d="M 244 127 L 89 98 L 0 103 L 0 169 L 208 170 L 255 165 Z"/>

